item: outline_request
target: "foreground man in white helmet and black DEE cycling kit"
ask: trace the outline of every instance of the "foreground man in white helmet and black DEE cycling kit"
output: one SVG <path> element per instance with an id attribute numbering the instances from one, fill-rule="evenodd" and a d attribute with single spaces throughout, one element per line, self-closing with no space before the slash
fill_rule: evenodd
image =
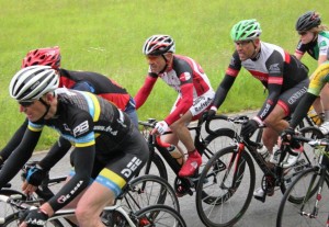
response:
<path id="1" fill-rule="evenodd" d="M 73 144 L 73 170 L 54 197 L 38 209 L 29 211 L 25 224 L 43 226 L 54 212 L 77 198 L 79 225 L 102 226 L 102 208 L 114 202 L 146 162 L 147 143 L 131 118 L 111 102 L 90 92 L 57 89 L 58 84 L 59 77 L 49 66 L 26 67 L 12 78 L 10 95 L 29 118 L 29 127 L 1 169 L 0 188 L 20 171 L 32 156 L 43 127 L 49 126 Z M 53 156 L 52 161 L 58 159 Z M 42 172 L 39 167 L 27 172 L 25 192 L 39 184 Z"/>

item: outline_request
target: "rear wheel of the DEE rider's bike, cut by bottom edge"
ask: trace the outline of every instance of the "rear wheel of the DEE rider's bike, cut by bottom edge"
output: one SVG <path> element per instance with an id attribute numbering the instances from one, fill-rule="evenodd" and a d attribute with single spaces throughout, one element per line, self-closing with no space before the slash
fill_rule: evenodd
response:
<path id="1" fill-rule="evenodd" d="M 136 226 L 186 227 L 181 214 L 166 205 L 151 205 L 134 214 Z"/>

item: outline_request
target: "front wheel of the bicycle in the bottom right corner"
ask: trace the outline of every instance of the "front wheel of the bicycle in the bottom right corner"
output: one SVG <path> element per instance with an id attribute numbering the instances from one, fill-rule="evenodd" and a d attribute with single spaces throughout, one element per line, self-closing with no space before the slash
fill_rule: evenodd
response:
<path id="1" fill-rule="evenodd" d="M 324 183 L 324 189 L 322 193 L 320 196 L 321 202 L 320 202 L 320 208 L 318 213 L 317 218 L 309 218 L 307 216 L 302 216 L 300 213 L 300 207 L 304 205 L 304 209 L 307 213 L 310 213 L 310 209 L 314 209 L 314 202 L 316 196 L 319 196 L 317 193 L 314 193 L 316 188 L 318 186 L 318 183 L 316 183 L 315 186 L 309 186 L 310 185 L 310 178 L 315 178 L 315 182 L 318 182 L 318 168 L 314 167 L 311 169 L 306 169 L 302 173 L 297 175 L 297 178 L 293 181 L 291 186 L 287 189 L 285 192 L 284 196 L 281 200 L 277 216 L 276 216 L 276 227 L 305 227 L 305 226 L 311 226 L 311 227 L 317 227 L 317 226 L 326 226 L 328 214 L 329 214 L 329 177 L 328 173 L 326 174 L 325 183 Z M 294 203 L 288 203 L 288 198 L 291 196 L 291 193 L 299 193 L 300 197 L 306 196 L 306 192 L 310 193 L 309 200 L 306 202 L 299 203 L 299 204 L 294 204 Z"/>

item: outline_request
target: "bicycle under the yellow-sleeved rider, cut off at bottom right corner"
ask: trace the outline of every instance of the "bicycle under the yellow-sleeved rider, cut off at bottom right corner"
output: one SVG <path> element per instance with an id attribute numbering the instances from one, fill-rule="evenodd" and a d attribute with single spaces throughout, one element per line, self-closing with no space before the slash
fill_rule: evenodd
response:
<path id="1" fill-rule="evenodd" d="M 317 132 L 318 128 L 310 127 L 309 130 Z M 294 136 L 297 141 L 308 143 L 314 146 L 318 155 L 318 163 L 310 169 L 300 172 L 281 200 L 276 227 L 298 226 L 329 226 L 329 139 L 306 138 Z M 298 194 L 298 203 L 291 204 L 291 194 Z"/>

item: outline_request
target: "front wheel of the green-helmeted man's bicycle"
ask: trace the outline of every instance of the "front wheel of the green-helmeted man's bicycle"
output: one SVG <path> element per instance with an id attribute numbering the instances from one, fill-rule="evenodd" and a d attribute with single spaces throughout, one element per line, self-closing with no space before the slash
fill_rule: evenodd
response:
<path id="1" fill-rule="evenodd" d="M 236 149 L 237 146 L 230 146 L 216 152 L 201 173 L 196 189 L 196 209 L 206 226 L 232 226 L 243 216 L 252 200 L 256 171 L 250 155 L 243 151 L 239 163 L 234 160 L 231 171 L 238 170 L 235 185 L 232 172 L 225 171 Z"/>

